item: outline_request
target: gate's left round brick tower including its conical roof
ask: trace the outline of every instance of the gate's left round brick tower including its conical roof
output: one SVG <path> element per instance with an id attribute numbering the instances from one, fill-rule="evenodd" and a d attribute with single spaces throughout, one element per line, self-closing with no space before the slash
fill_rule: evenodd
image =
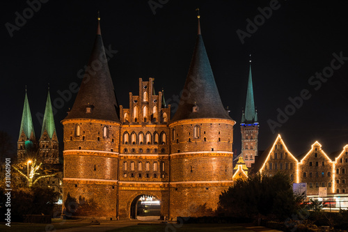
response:
<path id="1" fill-rule="evenodd" d="M 64 130 L 63 201 L 68 194 L 97 203 L 95 215 L 116 217 L 120 121 L 98 18 L 88 72 Z"/>

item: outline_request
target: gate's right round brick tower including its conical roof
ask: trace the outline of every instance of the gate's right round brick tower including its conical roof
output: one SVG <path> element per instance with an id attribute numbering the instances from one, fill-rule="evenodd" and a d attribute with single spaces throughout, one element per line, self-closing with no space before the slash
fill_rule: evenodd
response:
<path id="1" fill-rule="evenodd" d="M 172 118 L 170 218 L 207 216 L 232 185 L 235 121 L 224 109 L 198 35 L 180 104 Z"/>

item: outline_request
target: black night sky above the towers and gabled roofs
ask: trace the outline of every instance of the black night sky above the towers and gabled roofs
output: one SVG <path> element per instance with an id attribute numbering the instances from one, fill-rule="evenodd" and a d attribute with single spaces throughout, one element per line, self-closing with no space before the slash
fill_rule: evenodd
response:
<path id="1" fill-rule="evenodd" d="M 76 97 L 76 93 L 70 97 L 67 92 L 70 84 L 81 82 L 79 70 L 88 62 L 93 47 L 98 10 L 104 45 L 118 51 L 110 52 L 109 67 L 120 105 L 129 107 L 129 92 L 139 94 L 139 77 L 154 77 L 156 91 L 163 87 L 167 103 L 175 104 L 173 96 L 179 95 L 184 86 L 193 54 L 195 9 L 199 7 L 203 40 L 216 84 L 223 105 L 230 108 L 230 116 L 237 122 L 237 153 L 249 54 L 260 121 L 260 150 L 273 144 L 278 133 L 294 155 L 308 151 L 316 140 L 327 153 L 348 144 L 348 15 L 340 3 L 151 2 L 161 2 L 161 7 L 153 11 L 149 1 L 47 1 L 35 12 L 29 10 L 26 1 L 3 2 L 0 130 L 17 141 L 26 85 L 36 136 L 40 137 L 42 118 L 37 115 L 45 110 L 49 83 L 58 137 L 63 142 L 60 122 Z M 260 17 L 260 8 L 270 4 L 274 10 L 265 10 L 268 19 Z M 35 7 L 39 8 L 37 4 Z M 11 37 L 6 25 L 16 25 L 16 13 L 26 14 L 28 19 L 17 22 L 22 24 Z M 259 26 L 253 31 L 249 28 L 251 33 L 242 44 L 237 30 L 247 32 L 247 19 L 259 20 Z M 341 63 L 334 61 L 334 53 L 343 56 Z M 328 78 L 312 77 L 323 70 Z M 305 98 L 310 98 L 303 100 L 299 109 L 290 106 L 289 98 L 298 100 L 303 90 L 307 90 Z M 63 104 L 59 104 L 60 92 L 68 97 Z M 277 109 L 287 109 L 292 115 L 279 122 Z M 281 127 L 272 131 L 270 120 Z"/>

